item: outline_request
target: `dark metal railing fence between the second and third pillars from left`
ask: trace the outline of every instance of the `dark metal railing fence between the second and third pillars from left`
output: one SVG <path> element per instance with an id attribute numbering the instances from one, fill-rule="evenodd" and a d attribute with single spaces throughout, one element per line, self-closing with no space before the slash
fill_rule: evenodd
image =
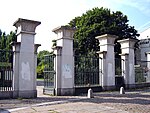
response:
<path id="1" fill-rule="evenodd" d="M 75 87 L 99 86 L 100 57 L 74 56 L 75 59 Z"/>

